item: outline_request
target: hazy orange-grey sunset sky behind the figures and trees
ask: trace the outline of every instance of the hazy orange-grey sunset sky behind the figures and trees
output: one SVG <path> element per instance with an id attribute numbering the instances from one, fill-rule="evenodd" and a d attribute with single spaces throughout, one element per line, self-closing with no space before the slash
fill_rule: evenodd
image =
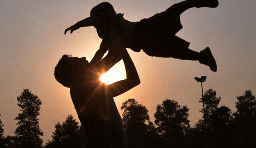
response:
<path id="1" fill-rule="evenodd" d="M 162 12 L 182 0 L 109 0 L 117 13 L 137 22 Z M 53 75 L 63 54 L 85 56 L 88 61 L 97 51 L 101 39 L 94 27 L 80 28 L 73 34 L 64 30 L 87 18 L 101 0 L 0 0 L 0 114 L 4 135 L 14 135 L 20 108 L 17 97 L 30 89 L 41 101 L 39 118 L 44 143 L 52 140 L 54 125 L 64 122 L 68 114 L 78 117 L 69 89 Z M 201 85 L 194 77 L 207 76 L 204 91 L 213 89 L 220 104 L 236 111 L 236 96 L 245 90 L 256 94 L 256 0 L 219 0 L 217 8 L 191 8 L 181 16 L 183 29 L 176 35 L 190 42 L 190 49 L 210 47 L 217 72 L 198 61 L 150 57 L 143 51 L 128 52 L 134 61 L 141 83 L 115 97 L 120 110 L 129 98 L 145 105 L 154 121 L 156 105 L 173 99 L 189 110 L 193 126 L 201 117 Z M 125 79 L 120 61 L 110 69 L 111 75 Z"/>

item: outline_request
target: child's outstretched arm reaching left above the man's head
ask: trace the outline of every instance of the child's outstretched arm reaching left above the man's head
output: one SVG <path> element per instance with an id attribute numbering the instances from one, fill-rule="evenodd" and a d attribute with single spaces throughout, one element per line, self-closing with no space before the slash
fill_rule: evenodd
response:
<path id="1" fill-rule="evenodd" d="M 70 30 L 70 34 L 72 34 L 73 31 L 78 30 L 80 27 L 88 27 L 88 26 L 94 26 L 96 24 L 96 21 L 100 19 L 99 17 L 88 17 L 84 20 L 80 20 L 76 24 L 70 26 L 67 28 L 64 32 L 66 34 Z"/>

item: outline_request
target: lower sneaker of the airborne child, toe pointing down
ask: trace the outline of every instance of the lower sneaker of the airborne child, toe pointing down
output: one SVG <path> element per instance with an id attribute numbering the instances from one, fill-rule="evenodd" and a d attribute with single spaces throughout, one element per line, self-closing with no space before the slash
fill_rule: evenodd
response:
<path id="1" fill-rule="evenodd" d="M 212 52 L 210 51 L 210 48 L 206 47 L 206 49 L 200 51 L 200 55 L 202 58 L 199 60 L 199 63 L 209 66 L 212 71 L 216 72 L 216 61 L 212 55 Z"/>

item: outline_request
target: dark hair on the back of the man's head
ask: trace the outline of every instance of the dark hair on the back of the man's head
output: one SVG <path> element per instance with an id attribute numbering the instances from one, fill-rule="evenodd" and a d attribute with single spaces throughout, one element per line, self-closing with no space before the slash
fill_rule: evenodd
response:
<path id="1" fill-rule="evenodd" d="M 69 59 L 72 55 L 62 55 L 60 61 L 54 69 L 55 79 L 65 87 L 70 87 L 72 80 L 76 73 L 74 71 L 76 67 L 72 64 Z"/>

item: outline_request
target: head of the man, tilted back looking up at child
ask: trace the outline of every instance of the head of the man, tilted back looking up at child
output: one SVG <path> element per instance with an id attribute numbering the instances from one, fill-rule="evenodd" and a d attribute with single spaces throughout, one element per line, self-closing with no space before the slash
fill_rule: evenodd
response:
<path id="1" fill-rule="evenodd" d="M 78 73 L 92 68 L 85 57 L 78 58 L 72 55 L 63 55 L 54 69 L 55 79 L 65 87 L 72 85 L 73 79 Z"/>

